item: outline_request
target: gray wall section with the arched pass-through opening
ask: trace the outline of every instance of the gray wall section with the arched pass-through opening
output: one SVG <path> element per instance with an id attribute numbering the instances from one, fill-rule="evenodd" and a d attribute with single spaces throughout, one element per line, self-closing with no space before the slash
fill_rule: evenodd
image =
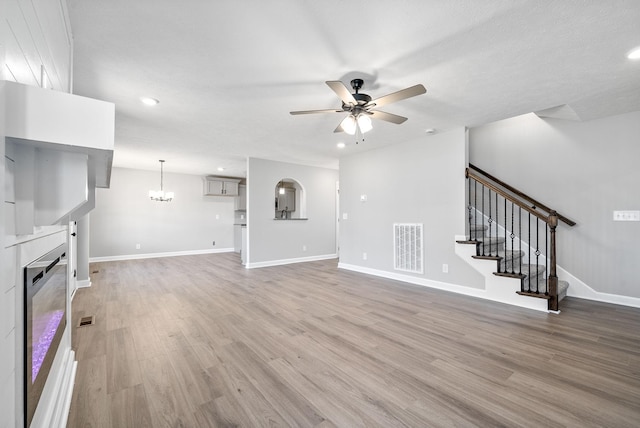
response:
<path id="1" fill-rule="evenodd" d="M 308 220 L 274 220 L 274 192 L 282 178 L 292 178 L 304 188 Z M 250 158 L 247 267 L 336 257 L 337 181 L 338 171 L 333 169 Z"/>

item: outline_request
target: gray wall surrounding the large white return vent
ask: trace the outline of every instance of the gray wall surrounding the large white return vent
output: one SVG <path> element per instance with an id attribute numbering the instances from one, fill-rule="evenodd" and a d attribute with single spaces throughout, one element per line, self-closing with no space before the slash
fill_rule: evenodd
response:
<path id="1" fill-rule="evenodd" d="M 405 279 L 482 287 L 482 278 L 454 253 L 455 236 L 465 233 L 465 166 L 463 128 L 342 158 L 340 266 L 399 278 L 404 272 L 393 266 L 393 224 L 422 223 L 424 273 Z"/>

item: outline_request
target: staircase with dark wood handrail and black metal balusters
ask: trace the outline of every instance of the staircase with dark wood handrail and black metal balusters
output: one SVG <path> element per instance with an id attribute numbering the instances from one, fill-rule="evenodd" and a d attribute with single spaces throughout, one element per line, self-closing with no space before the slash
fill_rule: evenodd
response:
<path id="1" fill-rule="evenodd" d="M 473 165 L 467 168 L 466 177 L 467 236 L 457 243 L 474 250 L 456 252 L 471 254 L 472 265 L 481 272 L 490 266 L 485 283 L 493 300 L 533 309 L 545 307 L 511 297 L 513 290 L 506 284 L 515 282 L 519 296 L 544 299 L 546 310 L 558 311 L 569 284 L 556 275 L 556 228 L 558 221 L 569 226 L 575 222 Z M 509 280 L 493 280 L 491 275 Z"/>

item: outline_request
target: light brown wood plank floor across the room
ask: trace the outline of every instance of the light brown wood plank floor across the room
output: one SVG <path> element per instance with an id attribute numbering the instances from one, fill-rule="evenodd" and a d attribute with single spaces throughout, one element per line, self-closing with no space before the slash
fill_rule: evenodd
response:
<path id="1" fill-rule="evenodd" d="M 638 309 L 567 298 L 544 314 L 335 260 L 91 271 L 68 427 L 640 426 Z"/>

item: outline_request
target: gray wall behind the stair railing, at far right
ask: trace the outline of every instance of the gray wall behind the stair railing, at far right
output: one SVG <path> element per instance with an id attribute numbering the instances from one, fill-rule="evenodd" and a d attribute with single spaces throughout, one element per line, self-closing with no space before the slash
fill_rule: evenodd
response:
<path id="1" fill-rule="evenodd" d="M 470 130 L 470 162 L 577 222 L 558 228 L 558 264 L 599 293 L 640 297 L 640 112 L 589 122 L 534 114 Z M 571 295 L 571 285 L 569 287 Z"/>

